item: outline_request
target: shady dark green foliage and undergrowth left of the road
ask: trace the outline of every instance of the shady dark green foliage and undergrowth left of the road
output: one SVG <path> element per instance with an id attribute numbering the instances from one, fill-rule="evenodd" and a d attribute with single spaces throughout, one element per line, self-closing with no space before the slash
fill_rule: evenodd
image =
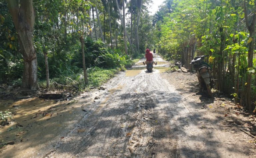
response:
<path id="1" fill-rule="evenodd" d="M 15 17 L 14 14 L 10 14 L 13 11 L 8 10 L 8 6 L 12 6 L 14 2 L 7 2 L 0 0 L 0 7 L 3 8 L 0 11 L 0 84 L 24 87 L 23 73 L 27 69 L 24 67 L 24 62 L 29 59 L 24 58 L 24 53 L 22 55 L 23 49 L 20 49 L 22 40 L 19 39 L 19 31 L 15 29 L 15 21 L 13 21 Z M 123 36 L 124 27 L 119 23 L 121 19 L 117 10 L 117 4 L 120 5 L 120 10 L 124 10 L 122 1 L 116 3 L 103 0 L 29 0 L 26 2 L 33 2 L 32 7 L 35 10 L 33 43 L 37 56 L 37 73 L 34 75 L 37 75 L 40 88 L 47 88 L 44 82 L 48 74 L 51 87 L 55 82 L 71 84 L 73 81 L 72 84 L 79 84 L 83 88 L 96 86 L 102 81 L 105 82 L 106 77 L 98 81 L 94 73 L 112 76 L 112 72 L 116 70 L 124 71 L 132 66 L 131 57 L 140 58 L 140 53 L 144 54 L 146 47 L 153 46 L 150 40 L 143 39 L 145 36 L 150 37 L 152 27 L 150 27 L 151 20 L 147 7 L 140 5 L 142 1 L 126 4 L 133 17 L 131 19 L 133 25 L 130 25 L 126 31 L 127 35 L 130 35 L 125 37 L 130 40 L 127 52 L 125 52 Z M 23 2 L 17 1 L 17 3 L 26 7 Z M 147 2 L 142 4 L 144 3 Z M 143 14 L 140 14 L 141 12 Z M 90 15 L 91 13 L 93 16 Z M 139 19 L 148 18 L 140 22 L 138 18 L 136 19 L 139 16 Z M 131 28 L 132 26 L 135 28 Z M 142 33 L 142 30 L 149 32 Z M 81 38 L 84 39 L 85 67 L 88 70 L 88 78 L 92 80 L 88 85 L 80 83 L 81 75 L 84 76 Z M 108 71 L 111 73 L 106 73 Z"/>

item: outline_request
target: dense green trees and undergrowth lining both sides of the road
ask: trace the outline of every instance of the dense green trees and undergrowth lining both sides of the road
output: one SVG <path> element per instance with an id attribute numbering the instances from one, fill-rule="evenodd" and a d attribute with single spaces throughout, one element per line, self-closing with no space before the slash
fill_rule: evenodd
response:
<path id="1" fill-rule="evenodd" d="M 0 83 L 37 89 L 37 79 L 43 88 L 50 78 L 51 85 L 74 81 L 84 89 L 108 78 L 99 80 L 95 73 L 112 76 L 130 67 L 131 57 L 157 48 L 166 59 L 181 61 L 190 70 L 195 56 L 208 55 L 217 90 L 233 94 L 252 111 L 255 0 L 166 0 L 153 16 L 150 2 L 0 0 Z M 30 24 L 26 34 L 16 18 L 17 4 L 35 10 L 35 15 L 27 12 L 31 19 L 20 15 Z M 25 50 L 31 51 L 26 55 Z"/>

